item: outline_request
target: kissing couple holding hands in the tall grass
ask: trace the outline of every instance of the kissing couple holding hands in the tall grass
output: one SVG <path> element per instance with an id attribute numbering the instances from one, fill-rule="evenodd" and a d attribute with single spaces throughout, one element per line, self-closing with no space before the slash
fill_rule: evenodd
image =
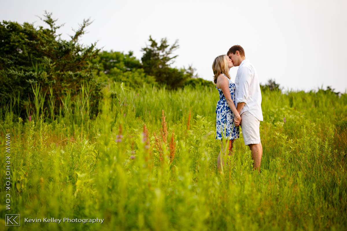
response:
<path id="1" fill-rule="evenodd" d="M 230 68 L 238 66 L 235 83 L 232 82 Z M 212 64 L 213 82 L 219 91 L 216 108 L 216 139 L 229 141 L 228 155 L 233 153 L 235 139 L 240 137 L 241 126 L 245 145 L 252 153 L 253 167 L 260 171 L 263 146 L 260 142 L 259 126 L 263 121 L 261 91 L 257 72 L 245 57 L 240 45 L 230 47 L 226 55 L 217 56 Z M 223 150 L 222 144 L 222 153 Z M 223 154 L 219 153 L 217 167 L 224 165 Z"/>

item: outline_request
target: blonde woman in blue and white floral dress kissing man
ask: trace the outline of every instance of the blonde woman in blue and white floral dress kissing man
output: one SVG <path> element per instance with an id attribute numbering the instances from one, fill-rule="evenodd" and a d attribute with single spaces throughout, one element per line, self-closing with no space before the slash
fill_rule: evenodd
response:
<path id="1" fill-rule="evenodd" d="M 217 102 L 217 119 L 216 128 L 217 135 L 216 139 L 229 140 L 229 152 L 232 153 L 232 146 L 235 139 L 240 137 L 239 125 L 241 122 L 241 116 L 237 112 L 235 107 L 235 83 L 230 80 L 229 71 L 234 66 L 231 59 L 227 55 L 217 56 L 212 64 L 213 70 L 213 82 L 216 84 L 216 88 L 219 91 L 219 100 Z M 223 145 L 222 145 L 223 151 Z M 224 153 L 224 151 L 223 151 Z M 218 155 L 217 167 L 221 170 L 221 153 Z M 224 161 L 222 160 L 224 165 Z"/>

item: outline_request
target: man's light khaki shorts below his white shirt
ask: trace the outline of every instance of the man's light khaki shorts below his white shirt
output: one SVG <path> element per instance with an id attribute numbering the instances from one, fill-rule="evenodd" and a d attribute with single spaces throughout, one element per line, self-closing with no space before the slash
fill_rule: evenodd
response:
<path id="1" fill-rule="evenodd" d="M 241 114 L 241 128 L 245 145 L 260 143 L 259 125 L 259 119 L 250 112 L 246 111 Z"/>

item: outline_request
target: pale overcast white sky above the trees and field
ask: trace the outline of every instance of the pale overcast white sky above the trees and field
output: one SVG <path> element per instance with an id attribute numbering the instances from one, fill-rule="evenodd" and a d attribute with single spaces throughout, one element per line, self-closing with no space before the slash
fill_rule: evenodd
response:
<path id="1" fill-rule="evenodd" d="M 45 25 L 44 10 L 65 23 L 62 38 L 91 18 L 81 43 L 98 48 L 134 51 L 149 35 L 169 44 L 178 39 L 174 66 L 192 64 L 199 77 L 212 80 L 212 62 L 235 44 L 243 46 L 259 81 L 275 79 L 281 87 L 337 91 L 347 88 L 346 0 L 246 1 L 90 1 L 0 0 L 0 20 Z M 232 80 L 238 67 L 231 68 Z"/>

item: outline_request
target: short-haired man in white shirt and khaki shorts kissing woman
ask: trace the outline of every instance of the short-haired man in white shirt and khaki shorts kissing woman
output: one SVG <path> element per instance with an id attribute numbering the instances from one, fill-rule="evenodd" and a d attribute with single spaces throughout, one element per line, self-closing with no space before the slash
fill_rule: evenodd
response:
<path id="1" fill-rule="evenodd" d="M 240 125 L 245 145 L 248 145 L 252 152 L 253 167 L 260 171 L 263 146 L 260 142 L 259 125 L 260 121 L 263 121 L 263 113 L 258 75 L 240 45 L 230 47 L 227 55 L 234 66 L 239 66 L 235 78 L 236 109 L 241 115 Z"/>

